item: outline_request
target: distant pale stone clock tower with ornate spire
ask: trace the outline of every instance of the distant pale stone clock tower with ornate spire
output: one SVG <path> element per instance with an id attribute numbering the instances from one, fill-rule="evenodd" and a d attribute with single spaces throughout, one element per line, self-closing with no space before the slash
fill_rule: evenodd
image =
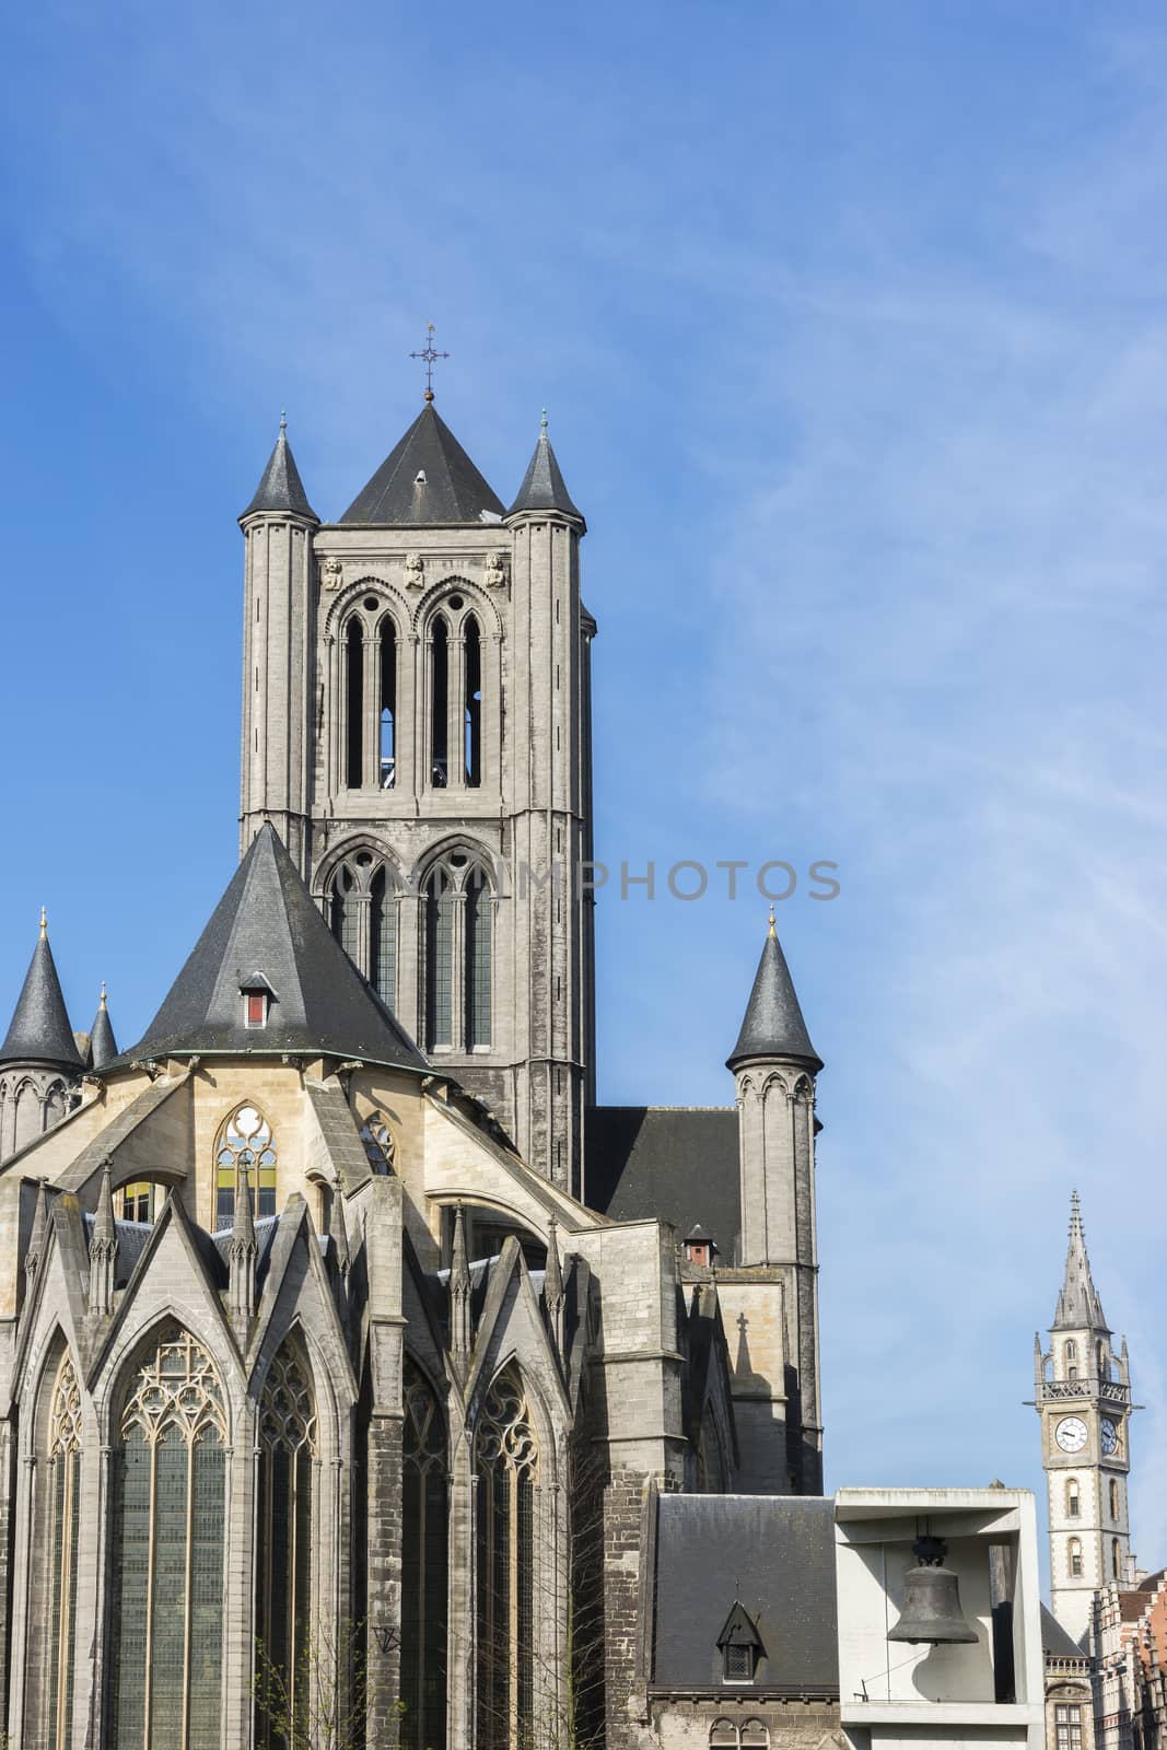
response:
<path id="1" fill-rule="evenodd" d="M 1050 1494 L 1053 1615 L 1080 1643 L 1094 1594 L 1111 1580 L 1130 1584 L 1130 1368 L 1127 1340 L 1115 1356 L 1102 1302 L 1090 1276 L 1078 1192 L 1069 1209 L 1066 1281 L 1050 1349 L 1034 1339 L 1041 1463 Z"/>

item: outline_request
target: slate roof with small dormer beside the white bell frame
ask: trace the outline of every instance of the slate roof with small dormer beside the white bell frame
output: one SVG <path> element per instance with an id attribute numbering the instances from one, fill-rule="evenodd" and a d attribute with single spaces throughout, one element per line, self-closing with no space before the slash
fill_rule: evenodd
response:
<path id="1" fill-rule="evenodd" d="M 653 1687 L 838 1694 L 835 1502 L 661 1494 Z M 717 1640 L 738 1601 L 763 1652 L 754 1684 L 724 1684 Z"/>

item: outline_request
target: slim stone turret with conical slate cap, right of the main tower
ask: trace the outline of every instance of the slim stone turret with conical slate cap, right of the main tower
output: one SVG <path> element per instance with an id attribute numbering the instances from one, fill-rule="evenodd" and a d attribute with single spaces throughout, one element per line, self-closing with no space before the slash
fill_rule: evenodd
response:
<path id="1" fill-rule="evenodd" d="M 822 1491 L 819 1241 L 815 1232 L 815 1076 L 782 943 L 763 943 L 742 1031 L 726 1060 L 737 1083 L 742 1237 L 737 1264 L 777 1269 L 786 1323 L 786 1438 L 791 1486 Z"/>

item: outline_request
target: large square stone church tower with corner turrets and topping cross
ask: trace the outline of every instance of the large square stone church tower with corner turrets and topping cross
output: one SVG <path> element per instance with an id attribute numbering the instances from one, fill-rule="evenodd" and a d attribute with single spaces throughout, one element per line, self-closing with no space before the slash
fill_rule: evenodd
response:
<path id="1" fill-rule="evenodd" d="M 577 1194 L 595 621 L 546 418 L 507 509 L 427 388 L 334 523 L 282 427 L 240 523 L 241 850 L 269 819 L 436 1071 Z"/>

